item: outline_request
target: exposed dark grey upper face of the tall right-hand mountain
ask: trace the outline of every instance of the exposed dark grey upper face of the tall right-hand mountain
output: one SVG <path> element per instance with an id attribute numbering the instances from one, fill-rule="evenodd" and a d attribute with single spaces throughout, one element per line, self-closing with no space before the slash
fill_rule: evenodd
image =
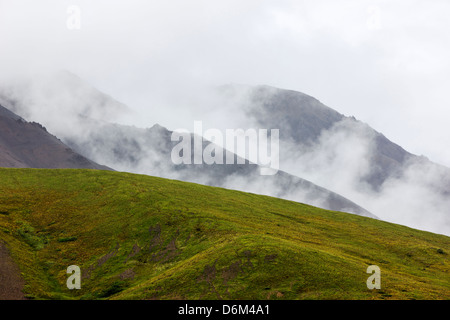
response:
<path id="1" fill-rule="evenodd" d="M 232 87 L 222 89 L 233 91 Z M 361 129 L 358 134 L 370 136 L 374 141 L 373 156 L 362 181 L 375 190 L 416 157 L 354 117 L 346 117 L 302 92 L 270 86 L 255 86 L 249 91 L 246 114 L 261 127 L 283 128 L 280 139 L 293 142 L 299 149 L 314 148 L 324 132 L 340 123 L 346 123 L 351 131 Z"/>

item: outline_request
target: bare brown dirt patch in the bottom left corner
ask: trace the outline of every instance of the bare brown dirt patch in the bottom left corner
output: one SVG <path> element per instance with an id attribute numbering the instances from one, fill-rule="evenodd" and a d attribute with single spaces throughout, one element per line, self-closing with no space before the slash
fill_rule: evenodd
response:
<path id="1" fill-rule="evenodd" d="M 24 300 L 23 286 L 19 268 L 0 242 L 0 300 Z"/>

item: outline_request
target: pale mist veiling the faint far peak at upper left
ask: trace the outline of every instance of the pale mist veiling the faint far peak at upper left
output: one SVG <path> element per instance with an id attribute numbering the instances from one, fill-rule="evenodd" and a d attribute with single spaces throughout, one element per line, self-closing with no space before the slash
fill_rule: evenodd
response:
<path id="1" fill-rule="evenodd" d="M 0 78 L 0 103 L 26 119 L 51 119 L 58 129 L 77 117 L 111 121 L 131 110 L 66 71 Z"/>

